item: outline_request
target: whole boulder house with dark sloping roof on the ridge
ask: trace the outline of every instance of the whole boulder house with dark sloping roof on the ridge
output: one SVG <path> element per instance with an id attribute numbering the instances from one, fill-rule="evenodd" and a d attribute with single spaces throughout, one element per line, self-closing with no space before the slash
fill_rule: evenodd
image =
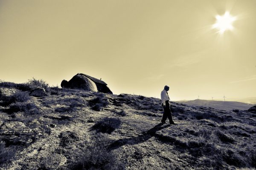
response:
<path id="1" fill-rule="evenodd" d="M 81 73 L 75 75 L 70 81 L 63 80 L 61 82 L 62 88 L 84 89 L 87 91 L 98 91 L 113 94 L 107 85 L 108 84 L 106 84 L 104 81 Z"/>

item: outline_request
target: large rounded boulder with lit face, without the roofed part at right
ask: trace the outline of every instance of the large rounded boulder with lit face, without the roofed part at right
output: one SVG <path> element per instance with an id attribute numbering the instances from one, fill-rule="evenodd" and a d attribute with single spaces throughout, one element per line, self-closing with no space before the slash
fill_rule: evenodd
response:
<path id="1" fill-rule="evenodd" d="M 96 84 L 83 75 L 75 75 L 70 81 L 63 80 L 61 82 L 61 87 L 69 89 L 83 89 L 92 92 L 98 91 Z"/>

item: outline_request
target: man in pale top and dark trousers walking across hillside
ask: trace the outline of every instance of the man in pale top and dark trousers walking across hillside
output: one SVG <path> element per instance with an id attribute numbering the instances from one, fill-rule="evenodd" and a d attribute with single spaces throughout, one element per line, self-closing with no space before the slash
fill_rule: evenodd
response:
<path id="1" fill-rule="evenodd" d="M 161 92 L 161 100 L 162 100 L 162 106 L 163 106 L 163 118 L 161 120 L 161 122 L 163 124 L 166 124 L 166 119 L 167 117 L 169 118 L 170 124 L 175 124 L 174 121 L 172 120 L 172 112 L 170 109 L 170 104 L 169 104 L 169 95 L 168 95 L 168 91 L 169 90 L 169 86 L 164 86 L 163 91 Z"/>

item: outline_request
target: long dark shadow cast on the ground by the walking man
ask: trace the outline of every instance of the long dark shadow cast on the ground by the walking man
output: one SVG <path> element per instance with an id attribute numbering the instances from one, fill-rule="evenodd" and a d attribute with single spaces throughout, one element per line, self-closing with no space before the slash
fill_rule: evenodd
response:
<path id="1" fill-rule="evenodd" d="M 125 144 L 139 144 L 147 141 L 150 139 L 152 136 L 156 135 L 156 132 L 159 130 L 162 130 L 166 127 L 169 127 L 170 124 L 163 125 L 162 123 L 157 124 L 155 127 L 151 128 L 147 132 L 143 133 L 142 135 L 138 135 L 137 137 L 132 137 L 132 138 L 124 138 L 124 139 L 119 139 L 117 141 L 114 141 L 112 144 L 108 145 L 107 149 L 108 150 L 114 150 L 119 147 L 122 147 Z"/>

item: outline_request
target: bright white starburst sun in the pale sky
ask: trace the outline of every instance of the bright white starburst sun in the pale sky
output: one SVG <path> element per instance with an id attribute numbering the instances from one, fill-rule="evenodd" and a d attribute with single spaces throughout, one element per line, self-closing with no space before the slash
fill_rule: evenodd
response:
<path id="1" fill-rule="evenodd" d="M 220 34 L 223 34 L 226 30 L 233 30 L 232 23 L 236 20 L 236 17 L 230 15 L 229 12 L 225 12 L 223 16 L 216 16 L 216 23 L 212 26 L 218 29 Z"/>

